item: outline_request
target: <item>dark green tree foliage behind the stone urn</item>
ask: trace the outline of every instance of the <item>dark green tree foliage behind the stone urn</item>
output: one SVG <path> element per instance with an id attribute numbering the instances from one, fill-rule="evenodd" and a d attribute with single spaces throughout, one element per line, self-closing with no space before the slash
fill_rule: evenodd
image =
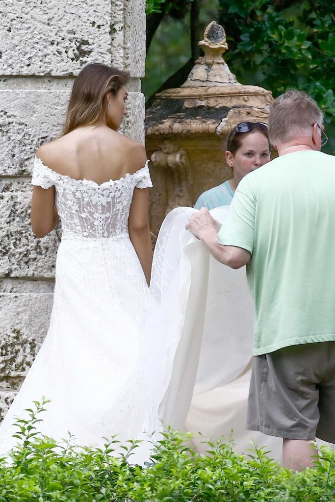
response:
<path id="1" fill-rule="evenodd" d="M 150 43 L 164 18 L 185 17 L 196 2 L 148 0 Z M 238 80 L 271 89 L 275 97 L 289 87 L 305 90 L 325 111 L 326 121 L 335 118 L 335 17 L 329 7 L 328 0 L 217 0 L 217 21 L 224 26 L 230 47 L 225 59 Z M 195 30 L 193 20 L 187 69 L 198 55 Z M 181 85 L 185 71 L 184 65 L 160 90 Z"/>

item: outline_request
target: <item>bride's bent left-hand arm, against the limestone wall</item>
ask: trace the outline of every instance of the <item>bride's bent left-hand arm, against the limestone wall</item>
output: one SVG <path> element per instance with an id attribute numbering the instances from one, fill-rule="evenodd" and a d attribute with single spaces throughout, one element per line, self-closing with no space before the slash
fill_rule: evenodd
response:
<path id="1" fill-rule="evenodd" d="M 55 228 L 58 222 L 55 209 L 55 187 L 42 188 L 34 186 L 30 221 L 36 237 L 45 237 Z"/>

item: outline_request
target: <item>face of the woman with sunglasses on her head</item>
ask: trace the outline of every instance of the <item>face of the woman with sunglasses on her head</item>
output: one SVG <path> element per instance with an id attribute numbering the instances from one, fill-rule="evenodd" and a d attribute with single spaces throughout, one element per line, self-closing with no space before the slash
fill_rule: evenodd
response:
<path id="1" fill-rule="evenodd" d="M 271 160 L 269 142 L 266 136 L 255 128 L 242 135 L 242 145 L 234 155 L 229 150 L 226 151 L 226 159 L 228 165 L 233 168 L 234 179 L 238 185 L 246 174 Z"/>

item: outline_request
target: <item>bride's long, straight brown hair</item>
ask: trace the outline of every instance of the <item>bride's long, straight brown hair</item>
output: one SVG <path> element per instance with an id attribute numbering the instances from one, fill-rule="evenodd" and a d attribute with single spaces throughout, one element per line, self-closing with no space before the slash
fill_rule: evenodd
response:
<path id="1" fill-rule="evenodd" d="M 115 96 L 129 80 L 129 73 L 113 66 L 101 63 L 85 66 L 73 84 L 62 136 L 98 122 L 104 113 L 108 92 Z"/>

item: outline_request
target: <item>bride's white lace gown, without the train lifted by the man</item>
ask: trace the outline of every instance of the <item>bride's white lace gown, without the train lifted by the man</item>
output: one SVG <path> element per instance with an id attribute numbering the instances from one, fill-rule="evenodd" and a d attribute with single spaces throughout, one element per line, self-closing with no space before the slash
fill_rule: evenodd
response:
<path id="1" fill-rule="evenodd" d="M 50 400 L 38 429 L 57 440 L 98 445 L 148 439 L 154 430 L 139 330 L 148 286 L 129 238 L 135 187 L 151 187 L 148 165 L 98 185 L 60 175 L 35 158 L 32 184 L 55 186 L 62 222 L 50 326 L 0 427 L 0 454 L 17 442 L 16 416 L 42 396 Z M 148 446 L 132 461 L 148 457 Z"/>

